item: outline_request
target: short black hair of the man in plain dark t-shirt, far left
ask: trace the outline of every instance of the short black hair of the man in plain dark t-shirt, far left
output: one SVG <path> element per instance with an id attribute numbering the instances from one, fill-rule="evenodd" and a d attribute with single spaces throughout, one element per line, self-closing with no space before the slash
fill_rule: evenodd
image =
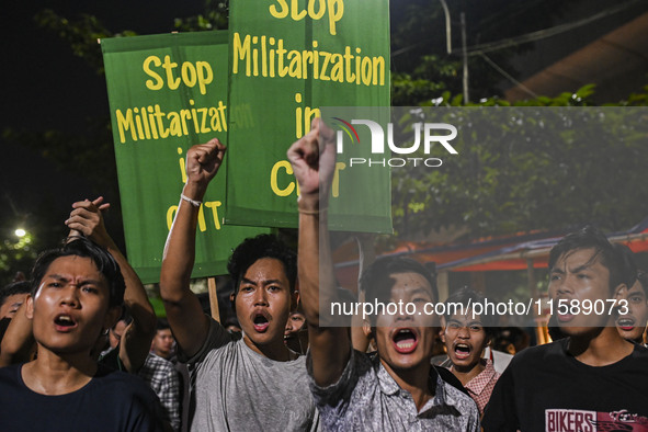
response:
<path id="1" fill-rule="evenodd" d="M 90 258 L 109 284 L 109 307 L 124 304 L 126 284 L 120 264 L 105 249 L 84 237 L 75 238 L 60 248 L 47 250 L 38 255 L 32 269 L 32 295 L 35 295 L 38 291 L 38 286 L 49 265 L 56 259 L 62 257 Z"/>

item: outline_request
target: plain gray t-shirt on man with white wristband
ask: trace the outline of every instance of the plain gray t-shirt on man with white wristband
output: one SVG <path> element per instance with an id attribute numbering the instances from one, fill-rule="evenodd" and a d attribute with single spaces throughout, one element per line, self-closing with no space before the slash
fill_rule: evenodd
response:
<path id="1" fill-rule="evenodd" d="M 191 429 L 315 430 L 305 359 L 270 360 L 249 349 L 241 333 L 229 333 L 211 319 L 205 343 L 186 362 L 195 403 Z"/>

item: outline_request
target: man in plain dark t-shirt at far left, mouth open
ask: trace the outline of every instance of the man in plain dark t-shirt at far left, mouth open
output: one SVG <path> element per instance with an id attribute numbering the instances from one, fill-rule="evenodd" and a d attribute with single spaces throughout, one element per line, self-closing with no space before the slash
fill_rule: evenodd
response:
<path id="1" fill-rule="evenodd" d="M 36 360 L 0 368 L 3 431 L 161 431 L 159 401 L 139 378 L 91 356 L 122 310 L 115 259 L 84 238 L 41 254 L 25 316 Z"/>

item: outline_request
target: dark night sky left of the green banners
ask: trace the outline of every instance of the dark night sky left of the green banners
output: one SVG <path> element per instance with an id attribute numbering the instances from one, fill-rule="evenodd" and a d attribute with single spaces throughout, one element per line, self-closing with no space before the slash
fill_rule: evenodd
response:
<path id="1" fill-rule="evenodd" d="M 173 31 L 175 18 L 204 9 L 203 0 L 189 1 L 36 1 L 16 2 L 2 23 L 2 111 L 0 130 L 7 126 L 31 132 L 73 132 L 87 118 L 109 118 L 104 77 L 76 57 L 69 45 L 39 29 L 34 15 L 41 9 L 75 20 L 95 15 L 110 31 L 138 34 Z M 52 208 L 61 223 L 69 205 L 89 194 L 88 182 L 60 172 L 32 150 L 0 137 L 0 238 L 15 228 L 16 218 Z M 100 170 L 101 167 L 88 167 Z M 50 204 L 54 204 L 52 206 Z M 27 218 L 29 220 L 33 217 Z"/>

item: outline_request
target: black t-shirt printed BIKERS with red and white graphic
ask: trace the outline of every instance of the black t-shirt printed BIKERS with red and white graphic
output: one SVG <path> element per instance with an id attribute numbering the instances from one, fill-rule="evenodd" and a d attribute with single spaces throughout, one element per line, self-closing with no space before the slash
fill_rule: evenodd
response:
<path id="1" fill-rule="evenodd" d="M 513 357 L 486 407 L 486 432 L 648 432 L 648 349 L 595 367 L 569 354 L 568 341 Z"/>

